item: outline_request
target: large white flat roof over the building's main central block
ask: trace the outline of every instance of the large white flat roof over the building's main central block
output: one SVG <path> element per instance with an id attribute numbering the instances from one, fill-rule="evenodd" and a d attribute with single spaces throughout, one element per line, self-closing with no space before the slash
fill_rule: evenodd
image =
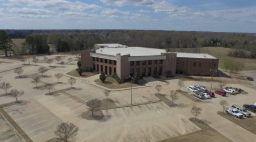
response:
<path id="1" fill-rule="evenodd" d="M 116 56 L 118 53 L 120 53 L 121 56 L 128 54 L 130 54 L 130 56 L 155 56 L 166 53 L 166 50 L 144 47 L 98 48 L 96 49 L 96 53 L 113 56 Z"/>

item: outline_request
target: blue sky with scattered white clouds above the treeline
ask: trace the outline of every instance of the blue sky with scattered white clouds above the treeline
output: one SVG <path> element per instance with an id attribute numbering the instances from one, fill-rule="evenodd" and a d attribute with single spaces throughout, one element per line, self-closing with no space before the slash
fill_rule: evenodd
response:
<path id="1" fill-rule="evenodd" d="M 0 0 L 0 29 L 256 33 L 256 1 Z"/>

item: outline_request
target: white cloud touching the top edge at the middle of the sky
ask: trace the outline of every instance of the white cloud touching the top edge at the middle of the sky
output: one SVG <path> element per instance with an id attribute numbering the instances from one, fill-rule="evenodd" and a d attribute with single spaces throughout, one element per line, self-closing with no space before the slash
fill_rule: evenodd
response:
<path id="1" fill-rule="evenodd" d="M 154 4 L 153 0 L 100 0 L 106 5 L 115 5 L 115 6 L 148 6 Z"/>

